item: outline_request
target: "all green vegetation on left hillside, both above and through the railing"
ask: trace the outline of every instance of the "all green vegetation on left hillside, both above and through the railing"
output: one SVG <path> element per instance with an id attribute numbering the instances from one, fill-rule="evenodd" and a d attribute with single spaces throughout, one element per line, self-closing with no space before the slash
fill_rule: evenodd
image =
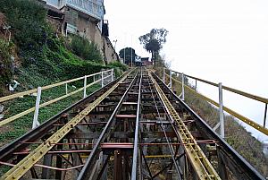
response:
<path id="1" fill-rule="evenodd" d="M 0 12 L 6 16 L 13 34 L 13 43 L 8 44 L 0 39 L 0 65 L 4 66 L 4 69 L 1 68 L 0 75 L 4 87 L 12 79 L 21 83 L 16 91 L 22 91 L 97 73 L 107 68 L 114 68 L 116 76 L 119 76 L 122 71 L 127 69 L 119 62 L 105 65 L 96 45 L 86 39 L 71 36 L 71 43 L 69 43 L 69 39 L 58 38 L 54 34 L 53 28 L 46 22 L 46 9 L 36 2 L 38 1 L 0 1 Z M 10 71 L 11 56 L 16 56 L 16 61 L 21 64 L 15 68 L 14 73 Z M 90 81 L 92 80 L 88 79 L 88 83 Z M 69 92 L 82 87 L 82 84 L 83 81 L 68 84 Z M 77 88 L 71 87 L 72 85 Z M 88 94 L 98 88 L 100 88 L 99 84 L 88 88 Z M 3 90 L 3 87 L 0 87 L 0 90 Z M 65 86 L 44 90 L 41 103 L 64 94 Z M 40 108 L 39 121 L 46 121 L 81 98 L 82 92 Z M 4 118 L 35 107 L 35 100 L 36 97 L 25 96 L 23 99 L 4 102 Z M 29 114 L 0 127 L 0 147 L 29 131 L 32 118 L 33 114 Z"/>

